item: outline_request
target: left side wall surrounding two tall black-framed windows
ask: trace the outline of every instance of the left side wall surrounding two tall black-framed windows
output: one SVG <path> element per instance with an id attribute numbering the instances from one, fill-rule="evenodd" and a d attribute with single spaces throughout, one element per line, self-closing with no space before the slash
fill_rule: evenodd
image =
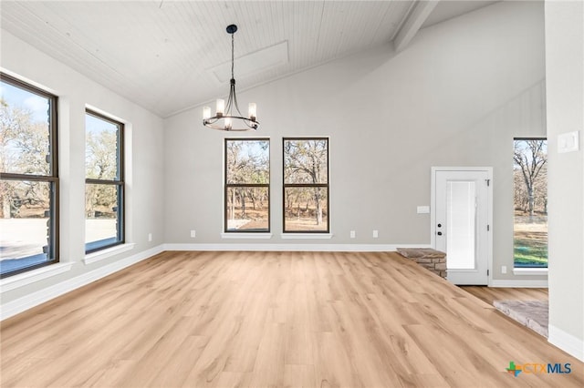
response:
<path id="1" fill-rule="evenodd" d="M 36 48 L 2 30 L 2 70 L 36 83 L 59 98 L 58 152 L 60 177 L 60 237 L 62 262 L 73 262 L 70 271 L 33 284 L 6 286 L 16 275 L 2 282 L 2 303 L 17 310 L 26 303 L 42 301 L 43 294 L 64 290 L 62 284 L 92 279 L 107 266 L 148 254 L 163 242 L 164 193 L 162 190 L 162 118 L 83 77 Z M 126 123 L 127 241 L 132 250 L 86 264 L 85 258 L 85 107 L 97 107 Z M 152 241 L 148 241 L 152 233 Z M 29 271 L 30 275 L 37 271 Z M 76 281 L 72 281 L 75 279 Z M 67 287 L 66 287 L 67 288 Z M 8 307 L 7 307 L 8 306 Z M 8 311 L 8 312 L 10 312 Z"/>

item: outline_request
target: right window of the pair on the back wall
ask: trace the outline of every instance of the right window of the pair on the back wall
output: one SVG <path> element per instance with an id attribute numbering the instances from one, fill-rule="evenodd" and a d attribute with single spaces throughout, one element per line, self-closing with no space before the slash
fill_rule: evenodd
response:
<path id="1" fill-rule="evenodd" d="M 328 233 L 328 138 L 284 138 L 284 232 Z"/>

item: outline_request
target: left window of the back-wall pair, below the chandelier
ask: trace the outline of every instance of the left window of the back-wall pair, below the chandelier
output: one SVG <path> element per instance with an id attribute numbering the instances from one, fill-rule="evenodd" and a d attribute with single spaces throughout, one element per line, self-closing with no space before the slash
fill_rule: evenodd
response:
<path id="1" fill-rule="evenodd" d="M 225 138 L 225 232 L 270 231 L 270 141 Z"/>

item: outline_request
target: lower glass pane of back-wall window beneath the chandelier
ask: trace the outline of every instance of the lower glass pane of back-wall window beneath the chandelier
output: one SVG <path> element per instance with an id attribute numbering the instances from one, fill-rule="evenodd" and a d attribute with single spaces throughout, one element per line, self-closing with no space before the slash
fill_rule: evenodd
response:
<path id="1" fill-rule="evenodd" d="M 226 196 L 227 230 L 269 231 L 268 188 L 229 187 Z"/>

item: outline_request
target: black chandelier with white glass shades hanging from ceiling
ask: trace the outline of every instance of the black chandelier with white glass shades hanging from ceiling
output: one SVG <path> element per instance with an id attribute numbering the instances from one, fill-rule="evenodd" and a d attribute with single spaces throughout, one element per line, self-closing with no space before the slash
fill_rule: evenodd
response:
<path id="1" fill-rule="evenodd" d="M 245 131 L 257 129 L 259 121 L 256 119 L 255 103 L 249 104 L 247 117 L 244 117 L 237 105 L 237 96 L 235 96 L 235 77 L 234 77 L 234 34 L 237 26 L 227 26 L 227 34 L 231 34 L 231 81 L 229 87 L 229 97 L 227 104 L 222 98 L 217 99 L 215 116 L 211 117 L 211 107 L 203 107 L 203 125 L 205 127 L 226 130 L 226 131 Z"/>

